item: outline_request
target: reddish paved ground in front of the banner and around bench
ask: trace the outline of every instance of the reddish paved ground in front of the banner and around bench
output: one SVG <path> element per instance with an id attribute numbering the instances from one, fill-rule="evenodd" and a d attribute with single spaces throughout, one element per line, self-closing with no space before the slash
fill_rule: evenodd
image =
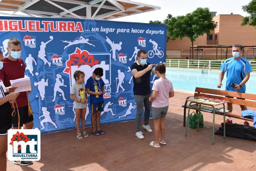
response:
<path id="1" fill-rule="evenodd" d="M 137 139 L 134 121 L 103 125 L 106 135 L 90 134 L 82 140 L 76 138 L 76 130 L 67 130 L 41 136 L 40 161 L 29 166 L 8 161 L 7 171 L 256 171 L 256 142 L 215 135 L 212 145 L 210 113 L 204 113 L 204 128 L 189 129 L 184 136 L 181 105 L 190 94 L 175 90 L 170 99 L 167 145 L 161 148 L 148 145 L 154 133 L 143 130 L 145 139 Z M 235 110 L 241 111 L 236 105 Z M 221 122 L 223 116 L 217 115 L 215 129 Z M 233 119 L 233 123 L 243 121 Z M 152 119 L 150 125 L 153 128 Z"/>

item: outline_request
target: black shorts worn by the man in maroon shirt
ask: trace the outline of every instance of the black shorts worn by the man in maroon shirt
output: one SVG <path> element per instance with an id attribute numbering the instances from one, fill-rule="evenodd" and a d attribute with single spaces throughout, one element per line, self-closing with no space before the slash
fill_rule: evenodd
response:
<path id="1" fill-rule="evenodd" d="M 19 110 L 19 113 L 17 112 L 17 110 Z M 18 109 L 15 108 L 15 113 L 13 115 L 13 127 L 18 127 L 19 125 L 18 115 L 20 115 L 20 127 L 23 127 L 23 124 L 29 123 L 34 120 L 33 115 L 29 116 L 29 106 L 19 107 Z"/>

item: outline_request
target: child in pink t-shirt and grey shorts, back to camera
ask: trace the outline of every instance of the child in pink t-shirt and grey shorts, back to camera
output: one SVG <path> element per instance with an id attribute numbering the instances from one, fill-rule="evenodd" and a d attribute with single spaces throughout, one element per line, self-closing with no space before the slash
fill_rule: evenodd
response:
<path id="1" fill-rule="evenodd" d="M 155 141 L 150 142 L 149 145 L 160 148 L 160 144 L 166 145 L 163 119 L 168 111 L 169 98 L 174 96 L 174 91 L 172 82 L 169 81 L 165 75 L 166 66 L 164 64 L 157 64 L 156 72 L 159 79 L 154 81 L 152 95 L 149 98 L 149 101 L 152 101 Z M 161 133 L 161 138 L 159 132 Z"/>

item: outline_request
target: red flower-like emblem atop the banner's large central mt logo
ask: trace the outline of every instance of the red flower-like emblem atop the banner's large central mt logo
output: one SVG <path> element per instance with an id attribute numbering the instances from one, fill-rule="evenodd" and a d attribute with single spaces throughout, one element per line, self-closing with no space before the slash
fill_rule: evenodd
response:
<path id="1" fill-rule="evenodd" d="M 77 47 L 76 51 L 70 55 L 70 59 L 66 62 L 66 68 L 63 72 L 71 76 L 71 66 L 78 66 L 79 68 L 82 65 L 90 65 L 93 67 L 96 64 L 99 64 L 99 61 L 95 60 L 93 55 Z"/>

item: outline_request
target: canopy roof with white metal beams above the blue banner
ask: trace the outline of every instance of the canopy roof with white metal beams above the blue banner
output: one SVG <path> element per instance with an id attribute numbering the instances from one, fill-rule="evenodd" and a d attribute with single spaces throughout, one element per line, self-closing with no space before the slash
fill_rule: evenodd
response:
<path id="1" fill-rule="evenodd" d="M 12 16 L 65 17 L 93 20 L 111 20 L 161 9 L 131 0 L 0 0 L 0 10 L 11 11 Z M 22 12 L 26 15 L 16 14 Z M 1 14 L 9 13 L 0 12 Z"/>

